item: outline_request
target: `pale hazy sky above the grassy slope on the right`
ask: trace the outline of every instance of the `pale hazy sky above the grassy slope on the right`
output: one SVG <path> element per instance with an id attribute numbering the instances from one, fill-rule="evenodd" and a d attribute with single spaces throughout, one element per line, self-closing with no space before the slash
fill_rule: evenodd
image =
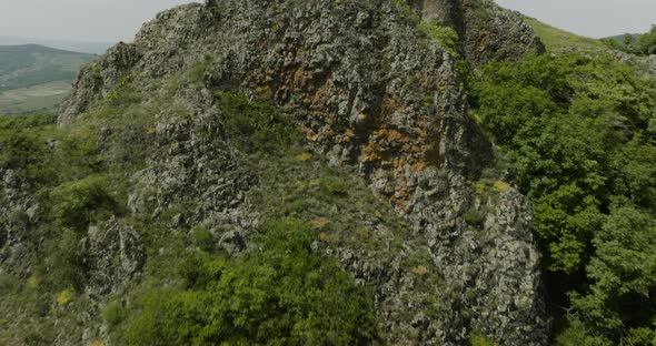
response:
<path id="1" fill-rule="evenodd" d="M 656 0 L 496 0 L 574 33 L 603 38 L 646 32 L 656 24 Z"/>

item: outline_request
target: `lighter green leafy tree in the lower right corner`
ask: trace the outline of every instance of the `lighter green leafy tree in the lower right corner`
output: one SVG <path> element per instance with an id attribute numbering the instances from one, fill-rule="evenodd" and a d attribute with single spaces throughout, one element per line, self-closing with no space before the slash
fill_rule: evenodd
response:
<path id="1" fill-rule="evenodd" d="M 585 295 L 571 293 L 580 318 L 619 339 L 624 330 L 656 317 L 656 220 L 620 206 L 596 233 Z M 646 344 L 645 344 L 646 345 Z"/>

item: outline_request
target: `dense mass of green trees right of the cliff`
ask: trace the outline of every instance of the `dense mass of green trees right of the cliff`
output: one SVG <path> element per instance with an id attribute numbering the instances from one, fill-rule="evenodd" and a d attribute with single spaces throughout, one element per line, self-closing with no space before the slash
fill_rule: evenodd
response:
<path id="1" fill-rule="evenodd" d="M 533 202 L 560 345 L 656 342 L 656 82 L 610 57 L 528 55 L 471 83 Z"/>

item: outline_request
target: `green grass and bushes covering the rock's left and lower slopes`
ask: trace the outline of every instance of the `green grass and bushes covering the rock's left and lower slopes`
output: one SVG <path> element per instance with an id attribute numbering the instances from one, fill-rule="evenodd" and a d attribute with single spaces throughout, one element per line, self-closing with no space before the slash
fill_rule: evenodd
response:
<path id="1" fill-rule="evenodd" d="M 121 292 L 128 299 L 111 299 L 102 309 L 119 345 L 375 343 L 369 287 L 356 284 L 315 244 L 356 243 L 361 240 L 354 234 L 359 234 L 377 240 L 370 245 L 376 251 L 401 251 L 402 234 L 409 231 L 392 213 L 380 214 L 388 206 L 359 180 L 329 170 L 301 146 L 302 136 L 286 114 L 218 93 L 230 145 L 252 156 L 248 174 L 267 181 L 251 196 L 265 221 L 254 235 L 255 246 L 228 257 L 215 234 L 229 230 L 170 226 L 168 215 L 193 207 L 186 202 L 158 216 L 127 211 L 126 194 L 133 186 L 126 176 L 141 167 L 141 155 L 152 145 L 152 114 L 166 109 L 171 116 L 187 116 L 167 101 L 148 105 L 152 109 L 140 105 L 141 98 L 126 77 L 74 125 L 58 128 L 52 115 L 0 119 L 0 170 L 16 172 L 40 201 L 32 225 L 37 231 L 26 243 L 31 251 L 21 263 L 33 274 L 0 277 L 0 316 L 13 316 L 0 317 L 0 339 L 42 345 L 61 330 L 79 339 L 85 328 L 98 325 L 86 317 L 97 312 L 89 311 L 93 307 L 82 294 L 90 254 L 80 244 L 90 226 L 117 215 L 138 230 L 148 251 L 145 279 Z M 100 144 L 102 128 L 111 131 Z M 356 217 L 361 210 L 378 213 L 398 235 L 378 240 L 364 221 L 352 222 L 361 218 Z M 29 222 L 23 213 L 7 217 Z M 408 265 L 427 265 L 429 260 L 419 255 L 425 250 L 416 248 Z M 434 285 L 440 278 L 426 271 L 418 282 Z M 430 298 L 426 304 L 435 304 Z"/>

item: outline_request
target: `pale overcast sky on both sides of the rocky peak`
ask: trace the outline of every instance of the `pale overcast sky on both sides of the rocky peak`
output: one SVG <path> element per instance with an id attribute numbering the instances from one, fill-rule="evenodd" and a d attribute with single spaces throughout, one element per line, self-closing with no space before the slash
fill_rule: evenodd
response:
<path id="1" fill-rule="evenodd" d="M 0 35 L 129 41 L 161 10 L 191 0 L 0 0 Z M 589 37 L 644 32 L 656 0 L 497 0 L 556 27 Z"/>

